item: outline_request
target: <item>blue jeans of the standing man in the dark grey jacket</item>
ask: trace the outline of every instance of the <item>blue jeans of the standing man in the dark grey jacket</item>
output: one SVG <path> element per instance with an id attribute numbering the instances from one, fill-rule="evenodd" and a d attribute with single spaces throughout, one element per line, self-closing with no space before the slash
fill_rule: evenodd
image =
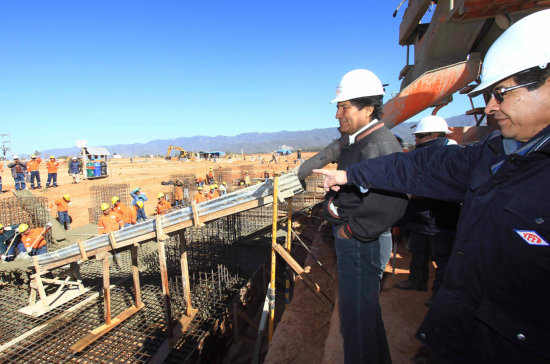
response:
<path id="1" fill-rule="evenodd" d="M 336 232 L 334 236 L 344 362 L 391 363 L 378 301 L 380 279 L 391 255 L 391 233 L 368 243 L 341 238 Z"/>

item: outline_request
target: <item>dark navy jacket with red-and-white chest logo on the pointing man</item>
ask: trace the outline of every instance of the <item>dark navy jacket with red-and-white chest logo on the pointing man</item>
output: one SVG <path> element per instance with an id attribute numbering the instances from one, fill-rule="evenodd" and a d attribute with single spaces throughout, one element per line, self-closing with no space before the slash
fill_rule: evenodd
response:
<path id="1" fill-rule="evenodd" d="M 547 127 L 527 154 L 507 155 L 497 132 L 347 169 L 358 186 L 463 202 L 443 286 L 417 332 L 442 362 L 550 362 L 549 140 Z"/>

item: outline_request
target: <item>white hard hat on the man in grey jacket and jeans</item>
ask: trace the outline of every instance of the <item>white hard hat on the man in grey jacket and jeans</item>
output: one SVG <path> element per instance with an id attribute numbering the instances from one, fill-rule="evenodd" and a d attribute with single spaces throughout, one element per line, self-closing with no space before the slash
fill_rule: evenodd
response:
<path id="1" fill-rule="evenodd" d="M 356 69 L 342 77 L 336 88 L 336 98 L 331 103 L 376 95 L 384 95 L 380 79 L 369 70 Z"/>

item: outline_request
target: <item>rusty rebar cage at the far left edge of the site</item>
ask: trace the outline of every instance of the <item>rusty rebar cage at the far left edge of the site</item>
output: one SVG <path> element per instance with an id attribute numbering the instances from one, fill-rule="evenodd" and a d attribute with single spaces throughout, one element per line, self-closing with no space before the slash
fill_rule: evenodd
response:
<path id="1" fill-rule="evenodd" d="M 0 204 L 0 223 L 4 226 L 25 223 L 31 228 L 44 227 L 49 219 L 46 197 L 9 197 Z M 44 238 L 50 248 L 51 232 L 46 232 Z"/>

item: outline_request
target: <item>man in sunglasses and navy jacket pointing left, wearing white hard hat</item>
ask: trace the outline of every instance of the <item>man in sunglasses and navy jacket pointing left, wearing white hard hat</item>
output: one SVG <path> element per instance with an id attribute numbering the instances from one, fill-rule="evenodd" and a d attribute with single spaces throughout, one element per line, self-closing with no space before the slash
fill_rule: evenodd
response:
<path id="1" fill-rule="evenodd" d="M 462 202 L 443 285 L 417 338 L 442 363 L 550 362 L 550 10 L 491 46 L 474 95 L 501 132 L 325 171 L 325 188 Z"/>

